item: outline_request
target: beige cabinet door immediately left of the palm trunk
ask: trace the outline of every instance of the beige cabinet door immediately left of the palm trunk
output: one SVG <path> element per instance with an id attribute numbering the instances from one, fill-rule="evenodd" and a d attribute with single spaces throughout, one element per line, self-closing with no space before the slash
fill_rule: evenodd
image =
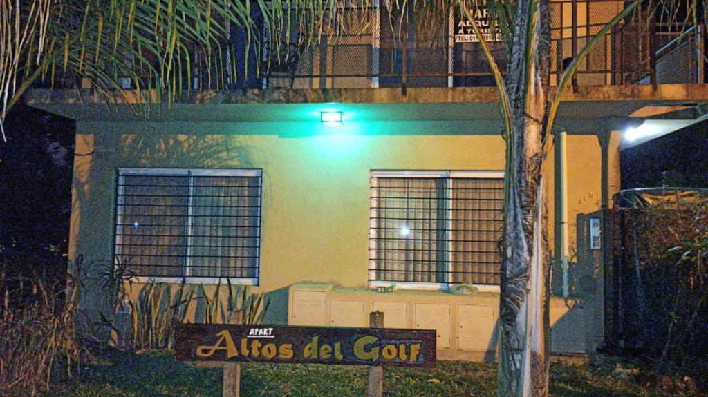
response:
<path id="1" fill-rule="evenodd" d="M 493 306 L 460 304 L 457 306 L 457 348 L 494 350 L 495 325 Z"/>

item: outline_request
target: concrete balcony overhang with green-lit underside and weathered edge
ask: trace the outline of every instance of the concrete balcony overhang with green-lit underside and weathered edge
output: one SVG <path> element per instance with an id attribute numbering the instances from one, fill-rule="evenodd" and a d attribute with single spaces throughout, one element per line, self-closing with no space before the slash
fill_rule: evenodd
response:
<path id="1" fill-rule="evenodd" d="M 503 128 L 493 87 L 408 88 L 406 93 L 399 88 L 192 91 L 170 105 L 161 103 L 154 91 L 115 93 L 107 99 L 96 90 L 31 90 L 25 102 L 89 122 L 319 122 L 319 112 L 329 109 L 344 112 L 348 123 L 457 121 L 489 130 L 476 134 L 498 134 Z M 661 84 L 656 90 L 651 85 L 581 86 L 564 92 L 555 126 L 570 134 L 624 130 L 638 119 L 656 116 L 641 109 L 663 107 L 671 114 L 706 102 L 708 85 L 702 84 Z M 633 119 L 632 114 L 642 117 Z M 664 124 L 667 131 L 684 125 L 680 119 Z"/>

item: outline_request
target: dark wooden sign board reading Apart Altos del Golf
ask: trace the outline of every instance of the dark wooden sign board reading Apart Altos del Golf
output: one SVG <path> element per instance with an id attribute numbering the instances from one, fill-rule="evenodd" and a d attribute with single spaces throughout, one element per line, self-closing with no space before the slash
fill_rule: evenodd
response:
<path id="1" fill-rule="evenodd" d="M 177 360 L 435 367 L 435 331 L 180 324 Z"/>

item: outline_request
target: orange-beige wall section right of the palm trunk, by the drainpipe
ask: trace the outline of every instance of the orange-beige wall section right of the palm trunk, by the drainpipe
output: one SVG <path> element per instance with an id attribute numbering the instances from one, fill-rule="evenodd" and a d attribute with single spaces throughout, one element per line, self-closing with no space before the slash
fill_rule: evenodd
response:
<path id="1" fill-rule="evenodd" d="M 569 293 L 581 300 L 587 324 L 586 338 L 589 351 L 603 343 L 604 336 L 604 300 L 603 300 L 603 249 L 590 249 L 588 229 L 590 218 L 602 219 L 600 213 L 604 205 L 612 208 L 612 195 L 619 191 L 619 143 L 622 140 L 621 131 L 606 131 L 604 134 L 583 134 L 582 124 L 576 129 L 567 129 L 567 211 L 568 211 L 568 262 L 569 262 Z M 605 149 L 603 150 L 603 146 Z M 552 261 L 552 292 L 562 293 L 561 261 L 559 247 L 559 174 L 556 163 L 560 153 L 552 149 L 547 158 L 547 172 L 553 177 L 545 179 L 549 182 L 547 191 L 548 205 L 548 235 L 550 259 Z M 603 161 L 605 170 L 603 171 Z M 606 182 L 603 186 L 603 179 Z"/>

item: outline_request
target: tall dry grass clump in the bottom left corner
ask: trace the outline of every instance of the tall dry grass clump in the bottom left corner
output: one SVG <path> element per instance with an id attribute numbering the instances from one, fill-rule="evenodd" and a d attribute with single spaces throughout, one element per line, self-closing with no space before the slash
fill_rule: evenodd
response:
<path id="1" fill-rule="evenodd" d="M 55 283 L 0 271 L 0 396 L 35 396 L 50 389 L 59 367 L 71 375 L 79 363 L 81 263 L 76 268 Z"/>

